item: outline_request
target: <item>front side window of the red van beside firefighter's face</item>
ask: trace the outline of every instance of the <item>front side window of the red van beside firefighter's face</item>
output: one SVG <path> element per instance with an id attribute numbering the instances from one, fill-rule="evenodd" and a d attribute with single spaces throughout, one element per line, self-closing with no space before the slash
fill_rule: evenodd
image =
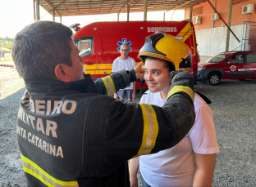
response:
<path id="1" fill-rule="evenodd" d="M 85 37 L 75 39 L 75 44 L 78 47 L 81 57 L 91 56 L 94 50 L 94 38 Z"/>

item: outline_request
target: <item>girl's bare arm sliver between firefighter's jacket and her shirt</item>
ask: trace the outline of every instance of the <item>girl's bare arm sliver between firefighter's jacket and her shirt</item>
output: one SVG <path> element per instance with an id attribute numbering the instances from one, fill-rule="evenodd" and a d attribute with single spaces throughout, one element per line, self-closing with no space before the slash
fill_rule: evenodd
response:
<path id="1" fill-rule="evenodd" d="M 139 157 L 130 159 L 129 173 L 130 173 L 130 186 L 138 187 L 137 172 L 139 168 Z"/>

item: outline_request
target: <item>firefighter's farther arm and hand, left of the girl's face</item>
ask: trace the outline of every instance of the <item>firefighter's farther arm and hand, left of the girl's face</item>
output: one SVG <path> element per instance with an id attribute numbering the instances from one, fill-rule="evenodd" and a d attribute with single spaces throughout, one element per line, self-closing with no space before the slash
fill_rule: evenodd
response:
<path id="1" fill-rule="evenodd" d="M 95 81 L 96 87 L 98 88 L 98 93 L 102 95 L 112 96 L 120 89 L 130 87 L 130 82 L 135 82 L 137 78 L 143 78 L 144 73 L 141 72 L 142 63 L 139 63 L 135 69 L 126 71 L 122 69 L 117 73 L 112 72 L 111 75 L 108 75 L 104 78 L 98 78 Z"/>

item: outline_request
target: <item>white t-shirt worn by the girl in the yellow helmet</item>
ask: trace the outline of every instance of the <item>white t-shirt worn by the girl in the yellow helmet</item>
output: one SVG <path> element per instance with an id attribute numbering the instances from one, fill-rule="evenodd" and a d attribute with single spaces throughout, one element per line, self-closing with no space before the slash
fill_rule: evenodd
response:
<path id="1" fill-rule="evenodd" d="M 160 92 L 146 93 L 140 103 L 158 106 L 165 104 L 166 100 L 162 99 Z M 139 170 L 150 186 L 192 186 L 195 170 L 194 153 L 216 154 L 220 151 L 213 112 L 197 93 L 194 94 L 194 110 L 194 126 L 179 144 L 157 154 L 139 157 Z"/>

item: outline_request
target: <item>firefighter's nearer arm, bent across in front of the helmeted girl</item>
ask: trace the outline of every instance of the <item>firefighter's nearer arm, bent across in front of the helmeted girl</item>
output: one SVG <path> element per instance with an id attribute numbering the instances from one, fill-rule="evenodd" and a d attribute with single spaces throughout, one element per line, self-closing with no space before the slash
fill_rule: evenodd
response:
<path id="1" fill-rule="evenodd" d="M 113 101 L 105 127 L 106 156 L 123 162 L 176 145 L 194 124 L 194 81 L 190 73 L 171 73 L 165 105 Z"/>

